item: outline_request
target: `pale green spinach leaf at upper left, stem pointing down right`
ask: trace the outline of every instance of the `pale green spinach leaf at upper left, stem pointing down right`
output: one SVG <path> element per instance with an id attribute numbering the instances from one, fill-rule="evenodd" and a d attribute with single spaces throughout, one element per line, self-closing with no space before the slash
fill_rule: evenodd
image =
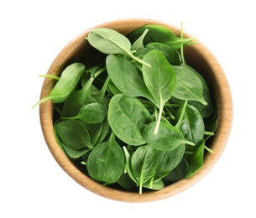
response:
<path id="1" fill-rule="evenodd" d="M 130 41 L 116 30 L 107 28 L 92 29 L 87 39 L 91 46 L 104 54 L 125 54 L 133 60 L 138 61 L 138 63 L 150 67 L 149 64 L 143 60 L 139 60 L 132 54 Z"/>

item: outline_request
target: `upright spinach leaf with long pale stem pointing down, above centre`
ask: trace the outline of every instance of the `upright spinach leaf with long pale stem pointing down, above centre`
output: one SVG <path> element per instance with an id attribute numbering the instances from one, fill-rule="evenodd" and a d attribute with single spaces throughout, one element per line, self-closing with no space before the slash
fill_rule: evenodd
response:
<path id="1" fill-rule="evenodd" d="M 149 51 L 145 54 L 144 60 L 151 64 L 151 68 L 145 65 L 142 67 L 144 82 L 153 96 L 156 106 L 159 107 L 159 117 L 154 131 L 156 134 L 165 103 L 175 91 L 176 76 L 165 55 L 158 50 Z"/>

